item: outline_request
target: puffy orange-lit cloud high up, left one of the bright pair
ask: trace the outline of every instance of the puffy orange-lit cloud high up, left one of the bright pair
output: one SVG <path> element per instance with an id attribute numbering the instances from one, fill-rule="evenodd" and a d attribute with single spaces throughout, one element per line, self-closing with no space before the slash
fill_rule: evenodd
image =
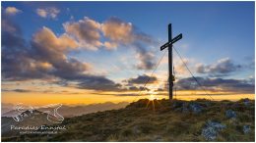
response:
<path id="1" fill-rule="evenodd" d="M 83 20 L 68 22 L 63 24 L 63 26 L 66 33 L 79 41 L 81 47 L 97 50 L 97 48 L 102 45 L 99 41 L 100 24 L 94 20 L 85 17 Z"/>

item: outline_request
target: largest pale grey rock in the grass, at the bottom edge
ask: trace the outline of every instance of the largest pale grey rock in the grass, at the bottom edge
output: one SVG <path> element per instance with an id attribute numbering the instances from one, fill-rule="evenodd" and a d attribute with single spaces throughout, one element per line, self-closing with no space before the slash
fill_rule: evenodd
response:
<path id="1" fill-rule="evenodd" d="M 217 138 L 219 131 L 223 130 L 225 125 L 219 122 L 208 121 L 202 130 L 202 135 L 206 140 L 211 141 Z"/>

